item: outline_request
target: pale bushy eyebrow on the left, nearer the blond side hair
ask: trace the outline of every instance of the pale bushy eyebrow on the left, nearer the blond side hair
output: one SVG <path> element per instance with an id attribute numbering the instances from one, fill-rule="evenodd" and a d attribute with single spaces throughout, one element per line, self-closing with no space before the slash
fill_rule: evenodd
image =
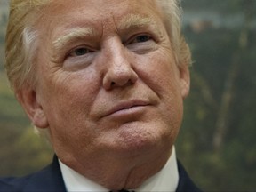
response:
<path id="1" fill-rule="evenodd" d="M 59 50 L 63 45 L 68 44 L 70 41 L 82 38 L 84 36 L 95 36 L 97 32 L 93 28 L 72 28 L 67 34 L 58 37 L 53 41 L 54 49 Z"/>

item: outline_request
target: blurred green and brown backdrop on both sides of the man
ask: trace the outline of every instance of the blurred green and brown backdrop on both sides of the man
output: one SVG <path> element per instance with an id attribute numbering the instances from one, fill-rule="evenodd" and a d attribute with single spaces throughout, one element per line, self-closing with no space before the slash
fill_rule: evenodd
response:
<path id="1" fill-rule="evenodd" d="M 52 160 L 4 75 L 8 0 L 0 0 L 0 176 Z M 183 0 L 193 52 L 177 156 L 205 191 L 256 190 L 256 0 Z"/>

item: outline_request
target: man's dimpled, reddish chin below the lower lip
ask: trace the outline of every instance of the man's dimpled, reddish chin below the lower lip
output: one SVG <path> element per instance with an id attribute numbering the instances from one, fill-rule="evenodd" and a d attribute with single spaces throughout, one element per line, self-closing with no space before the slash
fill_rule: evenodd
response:
<path id="1" fill-rule="evenodd" d="M 172 132 L 163 124 L 126 125 L 118 130 L 116 149 L 137 156 L 141 153 L 163 153 L 172 148 Z M 113 140 L 113 139 L 112 139 Z"/>

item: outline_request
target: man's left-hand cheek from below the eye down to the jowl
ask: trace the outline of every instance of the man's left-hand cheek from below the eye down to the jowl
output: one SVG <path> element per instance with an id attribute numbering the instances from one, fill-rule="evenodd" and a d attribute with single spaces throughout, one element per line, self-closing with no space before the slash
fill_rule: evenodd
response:
<path id="1" fill-rule="evenodd" d="M 89 82 L 88 82 L 89 83 Z M 69 85 L 55 84 L 47 107 L 52 143 L 56 153 L 73 153 L 74 148 L 92 146 L 97 130 L 92 128 L 89 116 L 95 98 L 93 87 L 71 80 Z M 84 140 L 84 141 L 82 141 Z"/>

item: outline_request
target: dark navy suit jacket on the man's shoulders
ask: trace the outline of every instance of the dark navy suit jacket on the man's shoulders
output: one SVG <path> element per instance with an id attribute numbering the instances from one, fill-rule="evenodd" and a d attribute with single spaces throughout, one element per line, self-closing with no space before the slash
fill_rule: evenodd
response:
<path id="1" fill-rule="evenodd" d="M 187 172 L 178 161 L 180 174 L 177 192 L 199 192 Z M 52 164 L 45 167 L 40 172 L 36 172 L 21 178 L 0 179 L 0 191 L 2 192 L 61 192 L 66 191 L 64 181 L 60 172 L 60 165 L 57 156 L 54 156 Z"/>

